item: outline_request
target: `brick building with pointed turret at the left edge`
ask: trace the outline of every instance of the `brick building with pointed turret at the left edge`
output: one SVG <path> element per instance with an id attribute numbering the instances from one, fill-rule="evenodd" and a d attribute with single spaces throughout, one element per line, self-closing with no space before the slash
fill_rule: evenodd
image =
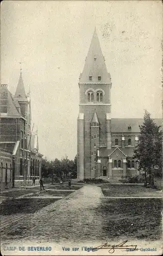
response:
<path id="1" fill-rule="evenodd" d="M 33 176 L 40 177 L 42 155 L 37 133 L 31 134 L 30 93 L 25 94 L 21 72 L 14 97 L 1 85 L 0 129 L 1 187 L 31 184 Z"/>

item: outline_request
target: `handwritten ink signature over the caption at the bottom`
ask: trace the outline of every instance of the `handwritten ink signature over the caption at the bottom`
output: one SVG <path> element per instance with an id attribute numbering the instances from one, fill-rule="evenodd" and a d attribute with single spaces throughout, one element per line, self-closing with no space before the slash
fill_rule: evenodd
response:
<path id="1" fill-rule="evenodd" d="M 127 248 L 131 248 L 133 251 L 135 250 L 138 250 L 137 249 L 137 246 L 138 245 L 126 245 L 128 240 L 120 243 L 120 244 L 114 244 L 114 245 L 111 245 L 111 244 L 108 244 L 108 243 L 104 243 L 102 245 L 99 245 L 97 247 L 95 247 L 94 249 L 95 250 L 100 250 L 100 249 L 108 249 L 108 252 L 109 253 L 114 253 L 115 252 L 115 249 L 127 249 Z"/>

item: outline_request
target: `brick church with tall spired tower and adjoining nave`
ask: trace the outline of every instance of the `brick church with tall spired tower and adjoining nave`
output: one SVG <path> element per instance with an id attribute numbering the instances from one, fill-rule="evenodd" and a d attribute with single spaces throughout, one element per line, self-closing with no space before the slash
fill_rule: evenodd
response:
<path id="1" fill-rule="evenodd" d="M 136 175 L 132 156 L 143 119 L 111 118 L 112 80 L 96 30 L 78 85 L 77 178 Z M 161 119 L 155 123 L 161 125 Z"/>

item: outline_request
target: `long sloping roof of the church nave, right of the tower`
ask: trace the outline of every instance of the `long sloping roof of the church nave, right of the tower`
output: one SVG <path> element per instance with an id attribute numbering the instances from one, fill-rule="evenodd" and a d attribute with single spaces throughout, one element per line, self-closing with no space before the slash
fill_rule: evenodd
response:
<path id="1" fill-rule="evenodd" d="M 112 118 L 111 119 L 111 131 L 112 133 L 139 133 L 140 128 L 139 125 L 143 124 L 143 118 Z M 157 125 L 161 125 L 162 119 L 157 118 L 154 119 L 154 122 Z M 128 130 L 128 127 L 131 127 Z"/>

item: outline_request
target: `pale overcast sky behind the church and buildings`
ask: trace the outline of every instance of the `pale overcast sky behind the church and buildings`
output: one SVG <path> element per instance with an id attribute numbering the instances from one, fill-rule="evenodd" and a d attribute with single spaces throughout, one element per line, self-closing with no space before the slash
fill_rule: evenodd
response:
<path id="1" fill-rule="evenodd" d="M 5 1 L 1 82 L 15 93 L 22 62 L 32 122 L 48 159 L 77 153 L 78 77 L 94 27 L 112 77 L 112 117 L 161 117 L 161 1 Z"/>

